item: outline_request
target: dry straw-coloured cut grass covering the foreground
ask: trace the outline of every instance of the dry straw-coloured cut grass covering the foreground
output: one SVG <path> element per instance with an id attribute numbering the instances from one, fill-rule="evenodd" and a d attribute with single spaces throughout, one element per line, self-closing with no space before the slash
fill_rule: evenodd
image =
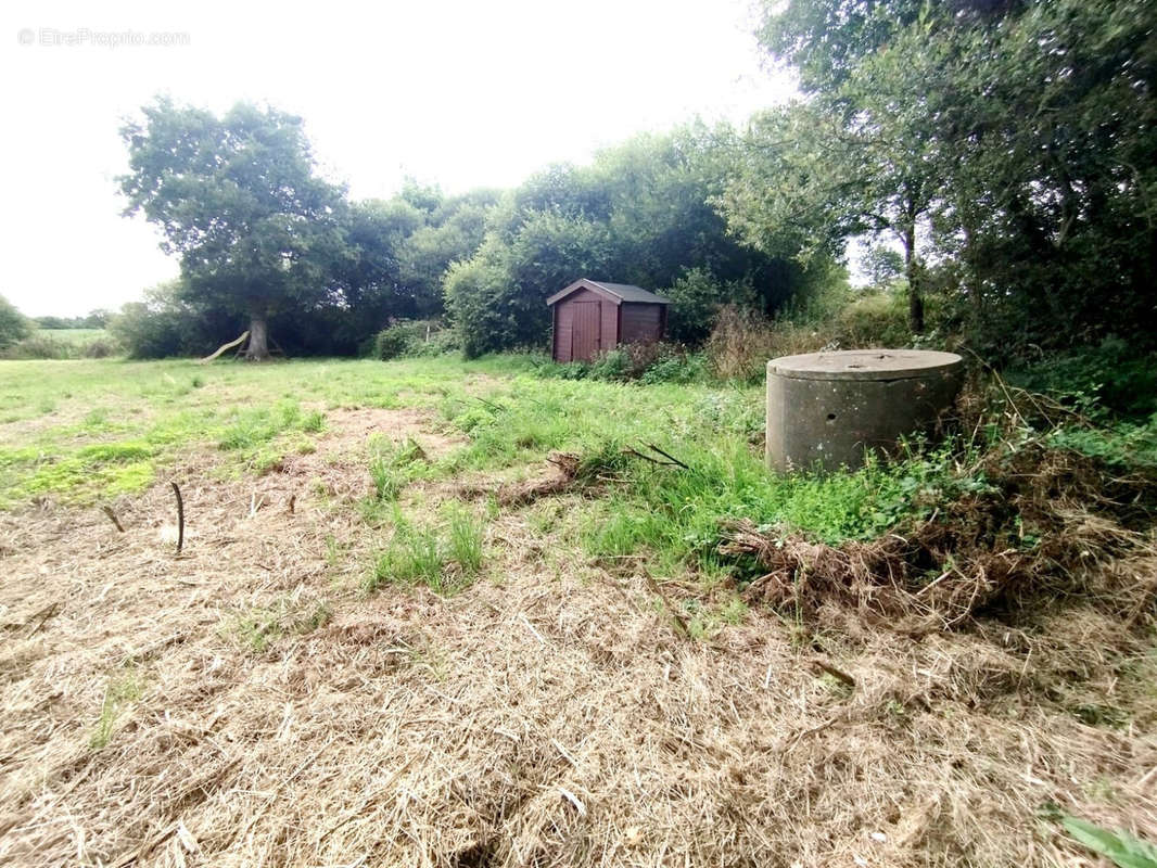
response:
<path id="1" fill-rule="evenodd" d="M 1078 866 L 1060 814 L 1157 837 L 1151 641 L 1112 616 L 911 635 L 757 606 L 692 640 L 672 612 L 734 593 L 588 561 L 532 529 L 536 480 L 500 490 L 472 587 L 367 596 L 373 432 L 452 447 L 356 411 L 257 481 L 190 472 L 180 557 L 161 486 L 124 534 L 0 517 L 0 862 Z"/>

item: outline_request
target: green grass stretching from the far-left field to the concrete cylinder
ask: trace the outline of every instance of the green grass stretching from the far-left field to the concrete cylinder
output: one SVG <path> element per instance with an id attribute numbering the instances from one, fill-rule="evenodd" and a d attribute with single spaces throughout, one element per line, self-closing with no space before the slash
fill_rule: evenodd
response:
<path id="1" fill-rule="evenodd" d="M 415 461 L 405 443 L 392 451 L 367 443 L 359 459 L 376 496 L 363 507 L 375 521 L 389 518 L 385 507 L 419 479 L 529 476 L 552 451 L 574 453 L 578 486 L 590 496 L 566 531 L 591 557 L 646 551 L 663 569 L 721 567 L 714 552 L 729 520 L 835 543 L 878 534 L 944 494 L 938 486 L 949 475 L 935 457 L 869 463 L 854 473 L 768 473 L 759 385 L 555 380 L 539 376 L 538 366 L 519 355 L 258 366 L 2 362 L 0 505 L 132 494 L 196 450 L 216 450 L 223 472 L 267 472 L 303 437 L 320 436 L 327 413 L 344 407 L 425 407 L 430 425 L 465 439 L 437 462 Z M 663 453 L 685 466 L 639 457 L 669 462 Z M 417 551 L 422 534 L 411 536 L 399 542 Z M 463 572 L 477 572 L 471 566 Z M 410 571 L 414 579 L 421 566 Z"/>

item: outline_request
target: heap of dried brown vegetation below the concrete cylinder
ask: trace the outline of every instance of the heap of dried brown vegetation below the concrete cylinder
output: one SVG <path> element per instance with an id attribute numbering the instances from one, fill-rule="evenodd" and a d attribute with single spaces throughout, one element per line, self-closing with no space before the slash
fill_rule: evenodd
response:
<path id="1" fill-rule="evenodd" d="M 1031 443 L 987 455 L 989 486 L 871 542 L 824 545 L 736 522 L 721 552 L 766 572 L 750 599 L 806 615 L 853 609 L 882 625 L 953 627 L 993 608 L 1081 594 L 1132 625 L 1151 608 L 1157 480 Z M 1143 530 L 1141 529 L 1143 528 Z"/>

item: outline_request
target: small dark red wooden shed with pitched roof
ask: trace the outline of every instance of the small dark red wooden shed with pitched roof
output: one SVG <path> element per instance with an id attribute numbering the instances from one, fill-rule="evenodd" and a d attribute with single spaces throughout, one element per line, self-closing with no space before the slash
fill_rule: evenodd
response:
<path id="1" fill-rule="evenodd" d="M 629 284 L 576 280 L 546 303 L 554 315 L 554 361 L 591 361 L 620 344 L 659 340 L 671 302 Z"/>

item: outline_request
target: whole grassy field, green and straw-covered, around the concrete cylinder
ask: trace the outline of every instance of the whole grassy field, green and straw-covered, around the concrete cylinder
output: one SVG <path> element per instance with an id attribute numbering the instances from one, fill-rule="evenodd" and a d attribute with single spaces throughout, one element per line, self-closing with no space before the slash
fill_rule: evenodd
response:
<path id="1" fill-rule="evenodd" d="M 1061 581 L 1026 507 L 994 554 L 1069 589 L 1031 613 L 815 608 L 803 568 L 769 602 L 776 558 L 858 575 L 1024 485 L 967 450 L 772 476 L 758 385 L 539 373 L 0 362 L 0 861 L 1077 866 L 1062 816 L 1157 831 L 1149 610 Z M 1097 575 L 1150 581 L 1151 528 L 1093 521 Z"/>

